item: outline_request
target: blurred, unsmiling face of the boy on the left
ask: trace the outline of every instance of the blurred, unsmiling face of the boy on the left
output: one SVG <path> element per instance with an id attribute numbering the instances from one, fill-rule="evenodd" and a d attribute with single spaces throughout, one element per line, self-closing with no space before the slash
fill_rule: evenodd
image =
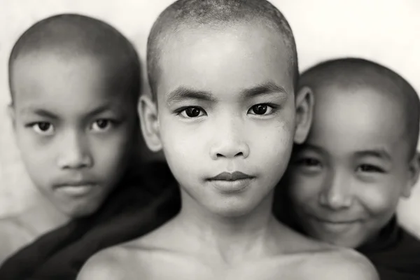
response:
<path id="1" fill-rule="evenodd" d="M 96 211 L 127 166 L 136 111 L 126 89 L 110 81 L 120 78 L 110 65 L 49 52 L 15 62 L 10 116 L 22 160 L 38 190 L 69 217 Z M 110 125 L 99 130 L 98 120 Z M 53 133 L 36 132 L 38 122 Z"/>

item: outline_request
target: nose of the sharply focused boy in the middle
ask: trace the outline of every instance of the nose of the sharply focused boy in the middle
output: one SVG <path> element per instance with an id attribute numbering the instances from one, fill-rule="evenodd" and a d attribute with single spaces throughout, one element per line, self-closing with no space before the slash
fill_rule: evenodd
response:
<path id="1" fill-rule="evenodd" d="M 210 148 L 212 160 L 218 158 L 248 158 L 249 146 L 241 137 L 241 132 L 235 123 L 226 122 L 218 126 L 215 137 L 216 141 Z"/>

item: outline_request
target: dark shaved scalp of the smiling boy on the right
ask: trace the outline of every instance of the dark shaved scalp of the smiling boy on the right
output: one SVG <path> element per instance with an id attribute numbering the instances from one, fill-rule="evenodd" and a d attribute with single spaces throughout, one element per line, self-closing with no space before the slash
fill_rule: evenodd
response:
<path id="1" fill-rule="evenodd" d="M 325 88 L 331 86 L 344 88 L 343 92 L 353 94 L 368 88 L 391 98 L 393 102 L 398 103 L 400 111 L 404 114 L 405 123 L 402 125 L 407 132 L 410 153 L 414 155 L 419 139 L 420 101 L 412 85 L 398 73 L 366 59 L 332 59 L 304 71 L 299 83 L 300 87 L 311 87 L 315 100 L 317 95 L 330 92 Z"/>

